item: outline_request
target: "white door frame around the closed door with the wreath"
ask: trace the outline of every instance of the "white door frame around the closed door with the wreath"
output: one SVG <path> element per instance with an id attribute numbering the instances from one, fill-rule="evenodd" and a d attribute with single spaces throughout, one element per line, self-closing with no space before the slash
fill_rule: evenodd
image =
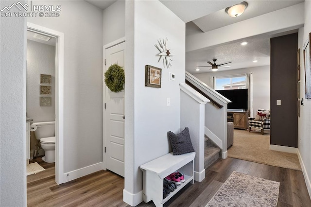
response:
<path id="1" fill-rule="evenodd" d="M 105 72 L 105 57 L 106 57 L 106 49 L 108 48 L 111 48 L 115 45 L 119 45 L 121 44 L 122 42 L 125 42 L 125 37 L 122 37 L 120 39 L 117 39 L 113 42 L 110 42 L 106 45 L 104 45 L 104 51 L 103 51 L 103 169 L 106 170 L 106 159 L 107 159 L 107 156 L 106 156 L 106 153 L 105 153 L 105 146 L 106 146 L 106 136 L 105 136 L 105 132 L 106 132 L 106 110 L 105 110 L 105 106 L 104 106 L 104 103 L 105 103 L 105 83 L 104 83 L 104 72 Z"/>

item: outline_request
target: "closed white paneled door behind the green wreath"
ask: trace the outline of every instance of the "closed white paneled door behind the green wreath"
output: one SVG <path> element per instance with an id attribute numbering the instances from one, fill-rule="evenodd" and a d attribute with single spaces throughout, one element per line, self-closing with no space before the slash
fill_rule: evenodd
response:
<path id="1" fill-rule="evenodd" d="M 124 48 L 125 42 L 105 49 L 105 71 L 115 63 L 124 67 Z M 105 104 L 106 169 L 124 177 L 124 90 L 105 86 Z"/>

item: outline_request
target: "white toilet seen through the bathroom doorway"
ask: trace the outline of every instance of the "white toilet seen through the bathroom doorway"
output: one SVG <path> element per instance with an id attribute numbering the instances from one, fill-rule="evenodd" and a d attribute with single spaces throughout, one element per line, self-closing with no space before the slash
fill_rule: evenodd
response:
<path id="1" fill-rule="evenodd" d="M 35 138 L 40 140 L 45 156 L 42 160 L 45 162 L 55 162 L 55 121 L 33 122 L 37 127 Z"/>

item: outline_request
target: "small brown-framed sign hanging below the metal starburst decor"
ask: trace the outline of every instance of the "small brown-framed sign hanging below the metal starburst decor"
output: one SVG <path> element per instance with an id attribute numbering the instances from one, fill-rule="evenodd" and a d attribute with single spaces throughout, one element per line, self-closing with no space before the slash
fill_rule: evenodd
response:
<path id="1" fill-rule="evenodd" d="M 150 65 L 145 66 L 145 86 L 161 87 L 162 69 Z"/>

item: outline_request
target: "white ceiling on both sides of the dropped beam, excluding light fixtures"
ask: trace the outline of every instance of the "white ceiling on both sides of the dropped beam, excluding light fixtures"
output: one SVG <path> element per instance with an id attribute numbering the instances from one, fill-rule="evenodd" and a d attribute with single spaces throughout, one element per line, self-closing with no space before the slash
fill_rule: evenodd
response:
<path id="1" fill-rule="evenodd" d="M 245 12 L 239 17 L 229 17 L 225 13 L 225 8 L 209 14 L 205 17 L 193 20 L 186 24 L 186 36 L 192 34 L 203 33 L 202 31 L 211 31 L 220 27 L 224 27 L 248 18 L 256 17 L 262 14 L 276 11 L 297 3 L 303 2 L 302 0 L 246 0 L 248 7 Z M 217 59 L 216 64 L 232 61 L 227 64 L 230 68 L 219 68 L 219 71 L 229 69 L 242 69 L 258 66 L 270 65 L 270 38 L 286 35 L 297 32 L 287 31 L 282 34 L 274 36 L 258 36 L 250 37 L 246 41 L 246 46 L 240 45 L 241 41 L 222 45 L 220 47 L 213 47 L 212 49 L 187 52 L 186 53 L 186 70 L 190 73 L 205 73 L 211 72 L 211 67 L 200 68 L 196 71 L 197 66 L 208 66 L 207 61 L 212 62 L 212 59 Z M 258 62 L 254 63 L 253 60 Z"/>

